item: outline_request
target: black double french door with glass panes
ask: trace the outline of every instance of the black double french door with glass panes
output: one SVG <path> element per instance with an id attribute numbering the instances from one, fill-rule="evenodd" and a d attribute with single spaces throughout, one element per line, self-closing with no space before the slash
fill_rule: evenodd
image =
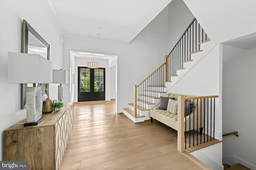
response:
<path id="1" fill-rule="evenodd" d="M 78 102 L 105 100 L 105 68 L 78 67 Z"/>

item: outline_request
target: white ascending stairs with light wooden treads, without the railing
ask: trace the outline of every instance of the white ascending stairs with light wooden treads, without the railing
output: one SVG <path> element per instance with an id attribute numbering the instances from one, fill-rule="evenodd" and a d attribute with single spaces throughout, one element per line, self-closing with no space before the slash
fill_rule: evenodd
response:
<path id="1" fill-rule="evenodd" d="M 200 43 L 200 50 L 190 53 L 191 59 L 182 62 L 182 68 L 177 68 L 176 74 L 170 76 L 170 81 L 165 81 L 165 86 L 147 86 L 147 90 L 143 90 L 142 94 L 137 97 L 137 112 L 140 115 L 134 115 L 134 103 L 128 104 L 123 109 L 123 113 L 134 123 L 143 122 L 150 119 L 150 110 L 160 103 L 160 96 L 165 97 L 166 92 L 174 86 L 190 69 L 192 69 L 205 55 L 215 47 L 215 43 L 210 40 Z M 160 92 L 162 89 L 162 92 Z M 157 97 L 156 97 L 157 96 Z"/>

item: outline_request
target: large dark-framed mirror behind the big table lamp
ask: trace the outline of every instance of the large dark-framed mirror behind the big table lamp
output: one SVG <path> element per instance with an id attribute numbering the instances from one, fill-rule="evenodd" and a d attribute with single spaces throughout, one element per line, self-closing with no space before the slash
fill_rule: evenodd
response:
<path id="1" fill-rule="evenodd" d="M 22 25 L 22 53 L 39 54 L 50 60 L 50 45 L 26 22 Z M 26 88 L 43 85 L 45 93 L 49 96 L 49 84 L 21 84 L 21 108 L 26 108 Z"/>

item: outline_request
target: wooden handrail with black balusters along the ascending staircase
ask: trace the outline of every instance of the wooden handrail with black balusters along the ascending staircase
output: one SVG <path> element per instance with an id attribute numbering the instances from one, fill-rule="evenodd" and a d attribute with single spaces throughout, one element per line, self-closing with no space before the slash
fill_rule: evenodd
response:
<path id="1" fill-rule="evenodd" d="M 206 35 L 203 28 L 200 26 L 196 18 L 194 18 L 188 27 L 185 29 L 178 42 L 174 45 L 170 53 L 164 56 L 164 63 L 159 66 L 154 72 L 152 72 L 148 77 L 146 77 L 138 85 L 134 85 L 134 115 L 135 117 L 140 115 L 137 113 L 137 101 L 148 101 L 148 93 L 153 94 L 153 92 L 148 92 L 148 88 L 152 89 L 152 86 L 165 86 L 165 82 L 172 82 L 171 77 L 177 76 L 176 71 L 182 70 L 183 63 L 192 61 L 191 55 L 196 52 L 200 52 L 200 44 L 210 41 L 209 37 Z M 160 73 L 161 72 L 161 73 Z M 158 74 L 160 73 L 160 74 Z M 158 75 L 157 75 L 158 74 Z M 153 88 L 155 93 L 162 92 L 159 88 Z M 144 92 L 147 90 L 147 92 Z M 143 95 L 142 94 L 146 94 Z M 140 96 L 141 95 L 141 96 Z M 140 97 L 138 97 L 140 96 Z M 147 98 L 144 98 L 146 97 Z M 151 96 L 151 95 L 150 95 Z M 160 96 L 152 96 L 160 97 Z M 139 100 L 137 100 L 139 98 Z M 144 103 L 139 103 L 143 104 Z M 144 107 L 144 106 L 142 106 Z"/>

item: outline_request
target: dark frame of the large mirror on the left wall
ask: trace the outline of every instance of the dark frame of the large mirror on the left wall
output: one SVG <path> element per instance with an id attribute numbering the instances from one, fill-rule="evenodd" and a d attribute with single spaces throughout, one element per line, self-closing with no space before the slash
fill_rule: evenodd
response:
<path id="1" fill-rule="evenodd" d="M 26 20 L 22 24 L 21 53 L 28 53 L 28 33 L 31 33 L 38 41 L 47 48 L 47 59 L 50 60 L 50 45 L 32 28 Z M 21 84 L 21 109 L 26 108 L 26 88 L 27 84 Z M 47 96 L 49 96 L 49 84 L 47 83 Z"/>

